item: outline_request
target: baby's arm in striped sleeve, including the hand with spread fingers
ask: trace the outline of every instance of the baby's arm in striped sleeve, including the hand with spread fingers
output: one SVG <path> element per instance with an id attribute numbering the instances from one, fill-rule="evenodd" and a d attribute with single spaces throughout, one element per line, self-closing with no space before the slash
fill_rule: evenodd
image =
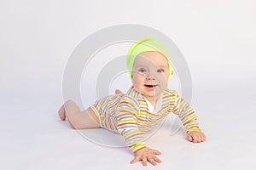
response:
<path id="1" fill-rule="evenodd" d="M 160 163 L 160 159 L 155 155 L 160 155 L 159 150 L 148 148 L 143 140 L 142 132 L 137 127 L 137 111 L 139 106 L 137 101 L 131 97 L 125 97 L 117 107 L 117 128 L 121 136 L 125 139 L 125 143 L 135 154 L 135 158 L 131 161 L 143 161 L 143 166 L 147 166 L 147 161 L 156 165 Z"/>

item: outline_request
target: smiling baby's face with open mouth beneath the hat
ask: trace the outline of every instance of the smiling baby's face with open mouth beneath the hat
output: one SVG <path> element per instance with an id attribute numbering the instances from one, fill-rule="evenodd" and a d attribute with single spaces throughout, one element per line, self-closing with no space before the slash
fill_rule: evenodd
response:
<path id="1" fill-rule="evenodd" d="M 158 52 L 143 52 L 135 59 L 132 82 L 147 99 L 158 99 L 166 89 L 169 77 L 167 59 Z"/>

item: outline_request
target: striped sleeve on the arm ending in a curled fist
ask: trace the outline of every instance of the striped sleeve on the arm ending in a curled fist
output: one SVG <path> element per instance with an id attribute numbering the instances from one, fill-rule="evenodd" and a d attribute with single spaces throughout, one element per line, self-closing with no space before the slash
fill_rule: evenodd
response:
<path id="1" fill-rule="evenodd" d="M 176 91 L 175 94 L 176 99 L 172 112 L 179 116 L 187 133 L 189 131 L 201 131 L 195 111 L 193 111 L 191 106 L 183 98 L 181 98 Z"/>

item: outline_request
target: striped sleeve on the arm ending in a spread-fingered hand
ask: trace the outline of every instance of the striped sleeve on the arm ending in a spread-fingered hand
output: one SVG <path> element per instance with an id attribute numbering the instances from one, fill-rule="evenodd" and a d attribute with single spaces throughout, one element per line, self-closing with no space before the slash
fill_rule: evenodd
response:
<path id="1" fill-rule="evenodd" d="M 125 96 L 117 105 L 116 119 L 119 134 L 133 153 L 146 147 L 142 132 L 137 127 L 139 104 L 131 96 Z"/>

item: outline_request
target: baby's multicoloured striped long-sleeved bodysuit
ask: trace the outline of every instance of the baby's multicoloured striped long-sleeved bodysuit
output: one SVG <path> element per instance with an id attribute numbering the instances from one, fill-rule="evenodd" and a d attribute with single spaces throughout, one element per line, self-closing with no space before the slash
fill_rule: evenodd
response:
<path id="1" fill-rule="evenodd" d="M 171 112 L 179 116 L 187 131 L 200 130 L 195 111 L 175 90 L 166 89 L 157 103 L 160 103 L 158 111 L 149 112 L 143 94 L 132 86 L 126 94 L 99 99 L 90 108 L 100 126 L 123 136 L 134 153 L 146 147 L 142 134 L 157 127 Z"/>

